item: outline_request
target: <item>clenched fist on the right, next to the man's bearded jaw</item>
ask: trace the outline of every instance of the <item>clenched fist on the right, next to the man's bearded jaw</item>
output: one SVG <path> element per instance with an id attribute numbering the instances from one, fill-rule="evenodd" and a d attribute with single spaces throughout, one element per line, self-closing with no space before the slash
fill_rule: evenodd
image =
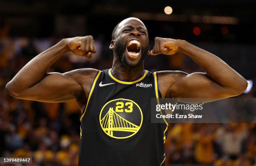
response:
<path id="1" fill-rule="evenodd" d="M 179 42 L 178 40 L 171 38 L 155 38 L 155 44 L 153 50 L 149 52 L 150 55 L 173 55 L 177 53 L 179 50 Z"/>

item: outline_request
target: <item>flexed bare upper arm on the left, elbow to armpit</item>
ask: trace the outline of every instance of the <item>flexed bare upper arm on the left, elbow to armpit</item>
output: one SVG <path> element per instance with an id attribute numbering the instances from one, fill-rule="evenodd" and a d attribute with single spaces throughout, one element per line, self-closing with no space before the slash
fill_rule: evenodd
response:
<path id="1" fill-rule="evenodd" d="M 69 77 L 69 73 L 47 73 L 17 97 L 42 102 L 64 102 L 75 99 L 75 95 L 81 90 L 82 86 Z"/>

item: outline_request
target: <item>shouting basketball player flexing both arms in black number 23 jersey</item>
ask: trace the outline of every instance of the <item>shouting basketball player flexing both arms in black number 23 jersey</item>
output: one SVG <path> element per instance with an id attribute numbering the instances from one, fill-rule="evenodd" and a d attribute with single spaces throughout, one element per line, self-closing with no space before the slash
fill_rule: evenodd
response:
<path id="1" fill-rule="evenodd" d="M 217 56 L 184 41 L 155 38 L 149 51 L 146 26 L 127 18 L 113 30 L 111 69 L 47 73 L 64 53 L 91 58 L 92 36 L 67 38 L 28 62 L 6 85 L 15 98 L 65 102 L 82 110 L 79 166 L 163 166 L 168 123 L 151 123 L 151 98 L 228 98 L 247 82 Z M 205 73 L 144 70 L 147 55 L 182 53 Z"/>

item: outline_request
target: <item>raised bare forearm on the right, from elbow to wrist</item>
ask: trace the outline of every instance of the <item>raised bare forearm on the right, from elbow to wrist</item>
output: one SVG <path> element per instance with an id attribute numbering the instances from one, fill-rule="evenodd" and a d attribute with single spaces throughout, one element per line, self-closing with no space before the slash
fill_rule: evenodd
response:
<path id="1" fill-rule="evenodd" d="M 179 40 L 179 52 L 183 53 L 200 65 L 207 75 L 223 87 L 235 91 L 245 90 L 246 80 L 223 60 L 184 40 Z"/>

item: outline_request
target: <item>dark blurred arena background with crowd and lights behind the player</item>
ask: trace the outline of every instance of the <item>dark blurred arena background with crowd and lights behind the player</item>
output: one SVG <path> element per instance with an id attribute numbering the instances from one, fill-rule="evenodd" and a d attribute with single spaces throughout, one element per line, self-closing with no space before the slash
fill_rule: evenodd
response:
<path id="1" fill-rule="evenodd" d="M 166 6 L 172 7 L 170 15 L 164 13 Z M 156 36 L 187 40 L 218 55 L 247 80 L 256 82 L 254 0 L 1 0 L 0 156 L 32 156 L 33 165 L 40 166 L 77 165 L 81 112 L 76 102 L 19 100 L 7 94 L 5 85 L 31 58 L 62 38 L 92 35 L 97 53 L 91 60 L 67 53 L 49 71 L 111 68 L 113 55 L 108 47 L 112 30 L 120 20 L 131 16 L 145 23 L 151 48 Z M 179 53 L 148 56 L 145 68 L 202 71 Z M 238 97 L 255 97 L 254 85 Z M 172 124 L 169 128 L 168 165 L 253 166 L 255 162 L 254 123 Z"/>

